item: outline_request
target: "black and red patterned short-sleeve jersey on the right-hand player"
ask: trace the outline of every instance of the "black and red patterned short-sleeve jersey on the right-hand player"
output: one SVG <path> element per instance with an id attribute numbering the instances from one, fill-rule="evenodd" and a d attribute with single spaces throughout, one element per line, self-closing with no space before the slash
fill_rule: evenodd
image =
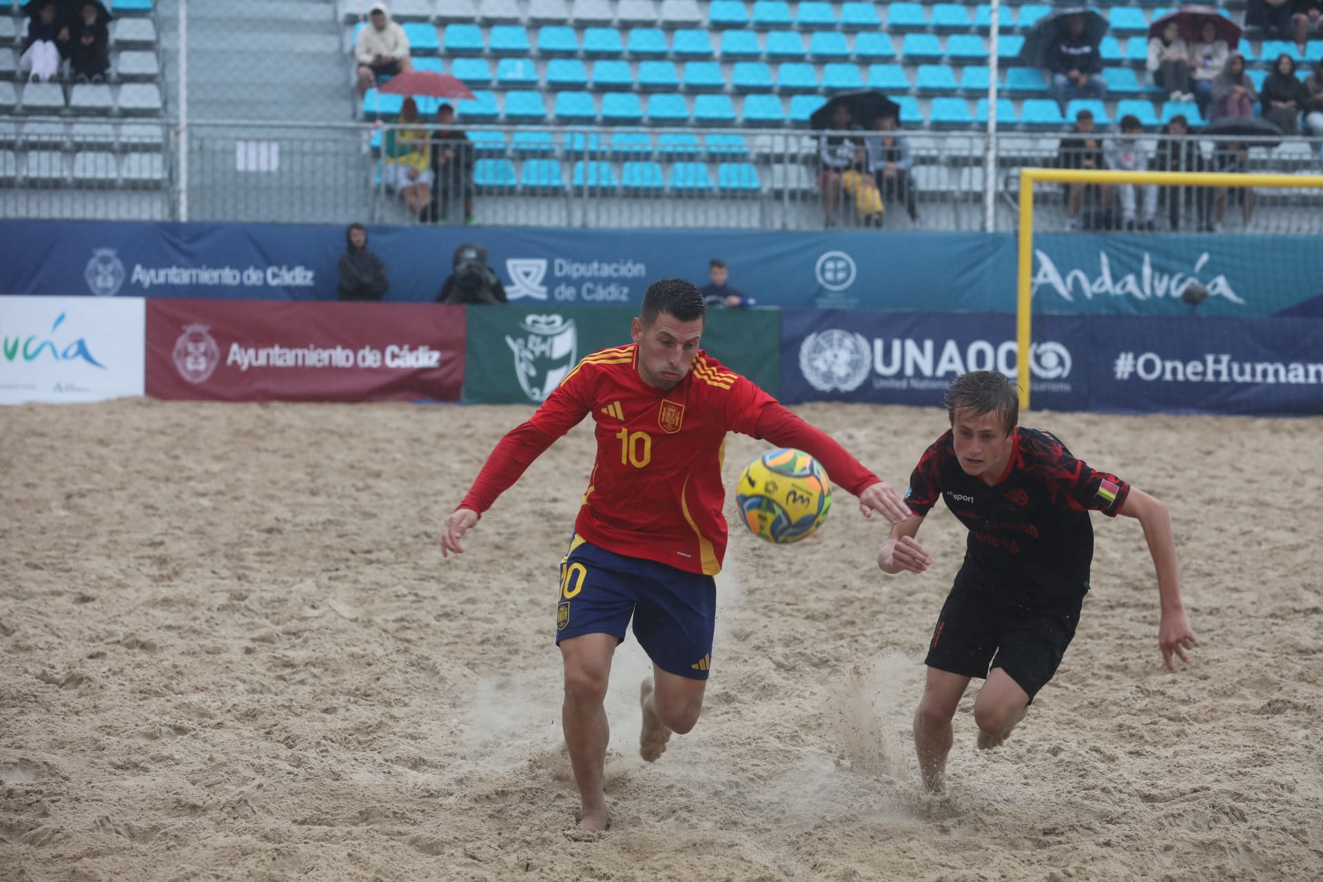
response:
<path id="1" fill-rule="evenodd" d="M 923 516 L 938 499 L 970 530 L 966 562 L 1009 591 L 1081 596 L 1089 590 L 1089 510 L 1115 517 L 1130 484 L 1076 459 L 1052 432 L 1016 428 L 996 484 L 967 475 L 947 431 L 923 452 L 905 501 Z"/>

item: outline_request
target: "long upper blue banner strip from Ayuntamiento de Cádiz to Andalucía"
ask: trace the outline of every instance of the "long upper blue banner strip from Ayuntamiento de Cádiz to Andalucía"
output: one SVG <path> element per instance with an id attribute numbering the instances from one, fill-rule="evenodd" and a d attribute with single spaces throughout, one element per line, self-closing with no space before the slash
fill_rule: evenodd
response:
<path id="1" fill-rule="evenodd" d="M 339 226 L 0 221 L 0 294 L 333 300 Z M 430 301 L 462 242 L 488 250 L 512 301 L 638 305 L 648 283 L 729 283 L 762 305 L 1013 313 L 1013 237 L 982 233 L 369 227 L 388 300 Z M 1044 234 L 1035 312 L 1269 316 L 1316 307 L 1310 237 Z M 1315 305 L 1310 305 L 1311 301 Z"/>

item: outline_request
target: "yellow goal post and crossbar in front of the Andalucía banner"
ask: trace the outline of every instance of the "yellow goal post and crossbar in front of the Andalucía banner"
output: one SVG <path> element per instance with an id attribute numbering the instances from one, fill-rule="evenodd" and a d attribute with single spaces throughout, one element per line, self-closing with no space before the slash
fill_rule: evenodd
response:
<path id="1" fill-rule="evenodd" d="M 1044 184 L 1156 184 L 1159 186 L 1269 186 L 1323 190 L 1320 175 L 1248 175 L 1228 172 L 1111 172 L 1070 168 L 1020 169 L 1020 238 L 1016 247 L 1016 380 L 1020 410 L 1029 410 L 1029 344 L 1033 340 L 1033 185 Z M 1323 246 L 1320 246 L 1323 247 Z"/>

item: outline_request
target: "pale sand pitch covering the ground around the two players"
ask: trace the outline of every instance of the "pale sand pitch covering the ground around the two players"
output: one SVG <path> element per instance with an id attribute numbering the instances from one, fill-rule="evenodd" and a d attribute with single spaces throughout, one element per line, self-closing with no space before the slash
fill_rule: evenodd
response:
<path id="1" fill-rule="evenodd" d="M 1200 645 L 1164 672 L 1139 525 L 1095 516 L 1057 678 L 995 752 L 971 689 L 943 800 L 909 725 L 959 524 L 927 518 L 923 577 L 844 493 L 804 545 L 737 533 L 703 719 L 655 766 L 617 655 L 583 842 L 553 635 L 591 435 L 435 543 L 528 413 L 0 411 L 0 879 L 1323 878 L 1323 421 L 1025 421 L 1168 501 Z M 902 488 L 945 422 L 799 413 Z M 732 436 L 728 487 L 763 448 Z"/>

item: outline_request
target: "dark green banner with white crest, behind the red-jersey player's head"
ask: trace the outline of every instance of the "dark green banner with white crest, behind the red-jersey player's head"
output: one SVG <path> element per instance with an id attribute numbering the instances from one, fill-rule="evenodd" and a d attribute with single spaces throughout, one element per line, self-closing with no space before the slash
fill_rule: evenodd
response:
<path id="1" fill-rule="evenodd" d="M 632 307 L 491 305 L 464 309 L 464 402 L 545 401 L 583 356 L 630 342 Z M 781 311 L 713 309 L 703 348 L 773 395 L 781 391 Z"/>

